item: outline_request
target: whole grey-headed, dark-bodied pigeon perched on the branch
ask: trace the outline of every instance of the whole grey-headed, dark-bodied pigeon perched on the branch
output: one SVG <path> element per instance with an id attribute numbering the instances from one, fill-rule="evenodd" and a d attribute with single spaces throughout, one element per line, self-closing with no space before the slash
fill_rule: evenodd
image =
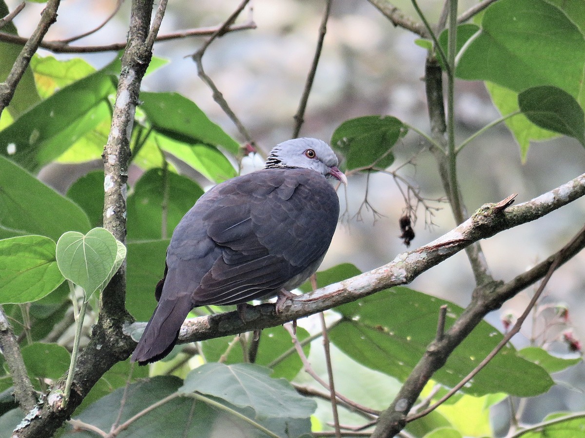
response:
<path id="1" fill-rule="evenodd" d="M 347 185 L 337 166 L 324 141 L 295 138 L 276 145 L 264 169 L 202 195 L 173 232 L 158 305 L 131 360 L 167 356 L 192 308 L 288 296 L 314 274 L 339 217 L 327 179 Z"/>

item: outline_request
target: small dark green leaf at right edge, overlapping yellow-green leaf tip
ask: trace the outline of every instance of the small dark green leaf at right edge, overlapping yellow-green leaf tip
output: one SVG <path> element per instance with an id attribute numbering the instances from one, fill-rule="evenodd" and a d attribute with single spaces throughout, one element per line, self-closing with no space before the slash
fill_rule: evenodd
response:
<path id="1" fill-rule="evenodd" d="M 519 93 L 518 106 L 536 126 L 576 138 L 585 146 L 585 114 L 566 91 L 550 85 L 529 88 Z"/>

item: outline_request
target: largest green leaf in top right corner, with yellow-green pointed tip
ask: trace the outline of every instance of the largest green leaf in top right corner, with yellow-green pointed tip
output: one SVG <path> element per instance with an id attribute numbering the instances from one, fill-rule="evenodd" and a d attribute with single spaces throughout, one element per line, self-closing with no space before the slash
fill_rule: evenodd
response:
<path id="1" fill-rule="evenodd" d="M 456 75 L 496 84 L 488 85 L 488 91 L 502 114 L 517 110 L 519 92 L 540 85 L 561 88 L 583 106 L 584 16 L 583 2 L 495 2 L 483 15 L 480 33 L 462 53 Z M 508 119 L 507 125 L 521 147 L 523 159 L 530 140 L 554 135 L 536 128 L 523 116 Z"/>

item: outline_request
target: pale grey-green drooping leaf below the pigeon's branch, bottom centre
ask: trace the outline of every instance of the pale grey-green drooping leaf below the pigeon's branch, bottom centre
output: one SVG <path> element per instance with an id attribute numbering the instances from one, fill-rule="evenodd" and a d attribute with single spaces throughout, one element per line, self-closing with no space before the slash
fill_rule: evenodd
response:
<path id="1" fill-rule="evenodd" d="M 178 392 L 198 392 L 222 398 L 240 408 L 252 408 L 257 418 L 308 418 L 313 400 L 302 397 L 284 378 L 269 377 L 270 369 L 249 363 L 206 363 L 192 370 Z"/>

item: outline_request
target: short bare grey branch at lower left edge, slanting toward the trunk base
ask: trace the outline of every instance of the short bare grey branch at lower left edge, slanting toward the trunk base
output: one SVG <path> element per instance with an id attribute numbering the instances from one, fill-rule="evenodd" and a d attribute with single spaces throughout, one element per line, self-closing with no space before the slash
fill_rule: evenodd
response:
<path id="1" fill-rule="evenodd" d="M 4 308 L 0 306 L 0 352 L 8 364 L 12 384 L 14 385 L 14 397 L 20 408 L 28 412 L 36 405 L 36 392 L 30 383 L 29 375 L 26 372 L 25 362 L 22 360 L 20 347 L 16 342 L 16 336 L 12 326 L 6 318 Z"/>

